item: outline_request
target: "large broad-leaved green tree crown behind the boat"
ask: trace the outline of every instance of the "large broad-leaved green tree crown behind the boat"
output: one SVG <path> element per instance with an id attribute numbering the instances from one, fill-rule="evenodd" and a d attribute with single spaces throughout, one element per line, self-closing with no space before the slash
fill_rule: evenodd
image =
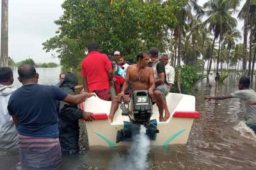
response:
<path id="1" fill-rule="evenodd" d="M 63 15 L 55 21 L 57 36 L 43 43 L 44 49 L 56 50 L 61 65 L 77 68 L 88 42 L 98 43 L 105 54 L 119 50 L 128 58 L 150 47 L 164 50 L 182 1 L 66 0 L 61 7 Z"/>

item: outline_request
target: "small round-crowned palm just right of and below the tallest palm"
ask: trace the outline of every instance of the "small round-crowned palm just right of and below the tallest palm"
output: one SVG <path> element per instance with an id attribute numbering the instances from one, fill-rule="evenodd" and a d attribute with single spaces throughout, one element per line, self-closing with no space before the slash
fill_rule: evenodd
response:
<path id="1" fill-rule="evenodd" d="M 240 31 L 237 29 L 228 30 L 228 32 L 224 35 L 224 45 L 227 45 L 227 70 L 228 70 L 228 62 L 229 62 L 229 54 L 230 50 L 235 47 L 236 42 L 242 38 Z"/>

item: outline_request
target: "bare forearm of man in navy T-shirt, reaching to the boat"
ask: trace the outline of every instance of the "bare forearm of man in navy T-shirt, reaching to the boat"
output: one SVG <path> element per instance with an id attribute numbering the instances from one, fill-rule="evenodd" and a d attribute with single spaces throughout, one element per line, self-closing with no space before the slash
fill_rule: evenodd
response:
<path id="1" fill-rule="evenodd" d="M 95 97 L 94 93 L 82 93 L 80 95 L 67 95 L 63 99 L 63 102 L 67 102 L 68 104 L 81 104 L 89 97 Z"/>

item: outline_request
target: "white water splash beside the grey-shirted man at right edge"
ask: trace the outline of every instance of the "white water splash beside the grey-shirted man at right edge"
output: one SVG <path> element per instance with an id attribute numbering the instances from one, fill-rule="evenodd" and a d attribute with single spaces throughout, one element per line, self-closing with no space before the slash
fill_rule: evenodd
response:
<path id="1" fill-rule="evenodd" d="M 245 121 L 240 121 L 235 127 L 234 130 L 239 132 L 241 136 L 246 137 L 247 139 L 256 140 L 256 134 L 252 130 L 252 128 L 248 127 L 245 124 Z"/>

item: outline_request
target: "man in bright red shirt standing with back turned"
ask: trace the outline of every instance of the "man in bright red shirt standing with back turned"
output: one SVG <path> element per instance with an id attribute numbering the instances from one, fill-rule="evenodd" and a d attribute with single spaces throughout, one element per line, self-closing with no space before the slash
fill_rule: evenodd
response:
<path id="1" fill-rule="evenodd" d="M 109 100 L 109 84 L 113 86 L 113 70 L 108 56 L 98 52 L 96 43 L 88 43 L 88 56 L 82 62 L 84 91 Z"/>

